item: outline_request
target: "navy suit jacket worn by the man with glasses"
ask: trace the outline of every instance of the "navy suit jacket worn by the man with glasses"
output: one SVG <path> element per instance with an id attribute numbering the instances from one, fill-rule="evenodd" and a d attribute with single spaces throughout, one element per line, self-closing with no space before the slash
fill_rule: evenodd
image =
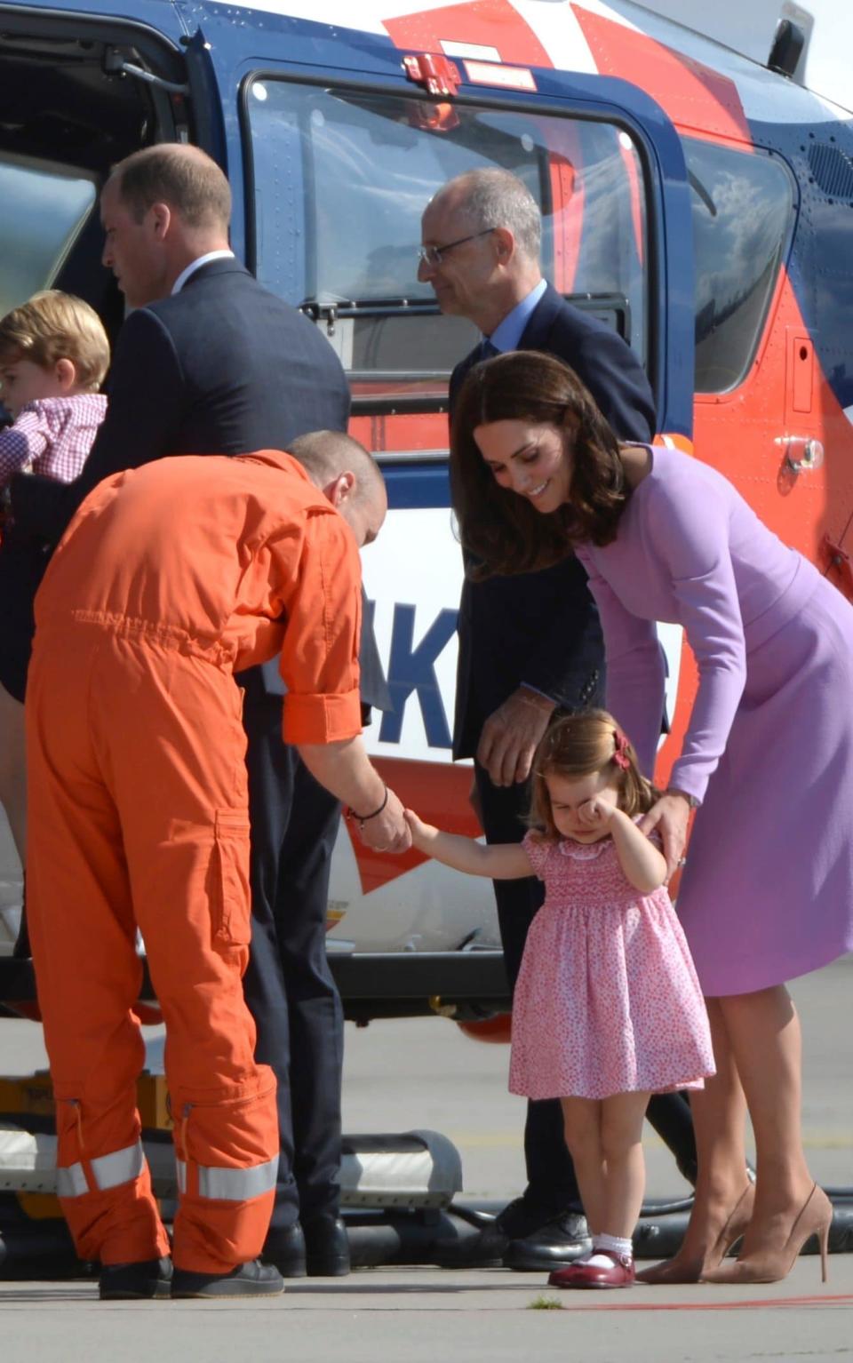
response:
<path id="1" fill-rule="evenodd" d="M 631 350 L 597 318 L 548 285 L 519 350 L 565 360 L 623 440 L 649 440 L 655 428 L 649 380 Z M 450 410 L 481 358 L 477 346 L 454 369 Z M 522 683 L 568 709 L 587 703 L 604 671 L 604 642 L 586 572 L 574 555 L 540 572 L 495 577 L 462 587 L 454 756 L 477 751 L 482 725 Z"/>

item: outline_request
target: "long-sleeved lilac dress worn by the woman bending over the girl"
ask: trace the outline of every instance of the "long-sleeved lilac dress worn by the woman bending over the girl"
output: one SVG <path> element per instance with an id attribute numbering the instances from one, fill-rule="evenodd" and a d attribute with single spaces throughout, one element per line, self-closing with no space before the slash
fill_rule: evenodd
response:
<path id="1" fill-rule="evenodd" d="M 722 474 L 655 446 L 613 544 L 578 557 L 601 611 L 608 709 L 651 773 L 655 620 L 681 624 L 699 690 L 670 782 L 696 796 L 679 917 L 706 996 L 853 949 L 853 608 Z"/>

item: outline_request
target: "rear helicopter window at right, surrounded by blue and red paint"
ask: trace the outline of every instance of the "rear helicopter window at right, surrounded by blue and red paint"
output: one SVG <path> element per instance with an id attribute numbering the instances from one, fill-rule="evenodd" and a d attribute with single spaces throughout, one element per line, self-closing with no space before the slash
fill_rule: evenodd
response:
<path id="1" fill-rule="evenodd" d="M 684 139 L 694 213 L 696 393 L 726 393 L 747 375 L 793 218 L 779 161 Z"/>

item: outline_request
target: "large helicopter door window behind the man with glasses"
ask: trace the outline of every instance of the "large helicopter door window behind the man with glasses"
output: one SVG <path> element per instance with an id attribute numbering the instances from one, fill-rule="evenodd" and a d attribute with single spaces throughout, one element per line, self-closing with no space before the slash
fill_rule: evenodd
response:
<path id="1" fill-rule="evenodd" d="M 417 278 L 427 202 L 477 168 L 525 181 L 542 210 L 545 275 L 645 357 L 645 187 L 627 132 L 266 76 L 245 101 L 255 271 L 326 328 L 357 409 L 382 394 L 410 409 L 446 401 L 450 371 L 477 341 Z"/>

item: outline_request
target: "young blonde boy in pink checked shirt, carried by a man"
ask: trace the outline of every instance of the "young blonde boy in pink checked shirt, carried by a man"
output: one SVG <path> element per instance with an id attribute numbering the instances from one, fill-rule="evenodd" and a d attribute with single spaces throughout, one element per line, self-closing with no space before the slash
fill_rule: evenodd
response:
<path id="1" fill-rule="evenodd" d="M 59 289 L 35 293 L 0 319 L 0 399 L 14 424 L 0 431 L 0 489 L 19 472 L 71 483 L 80 473 L 106 398 L 98 393 L 109 367 L 109 341 L 97 312 Z M 38 559 L 38 562 L 35 562 Z M 18 544 L 14 529 L 0 544 L 0 801 L 23 866 L 26 766 L 23 688 L 26 662 L 12 641 L 15 620 L 3 607 L 7 574 L 29 572 L 33 594 L 44 571 L 38 547 Z M 46 562 L 46 560 L 45 560 Z"/>

